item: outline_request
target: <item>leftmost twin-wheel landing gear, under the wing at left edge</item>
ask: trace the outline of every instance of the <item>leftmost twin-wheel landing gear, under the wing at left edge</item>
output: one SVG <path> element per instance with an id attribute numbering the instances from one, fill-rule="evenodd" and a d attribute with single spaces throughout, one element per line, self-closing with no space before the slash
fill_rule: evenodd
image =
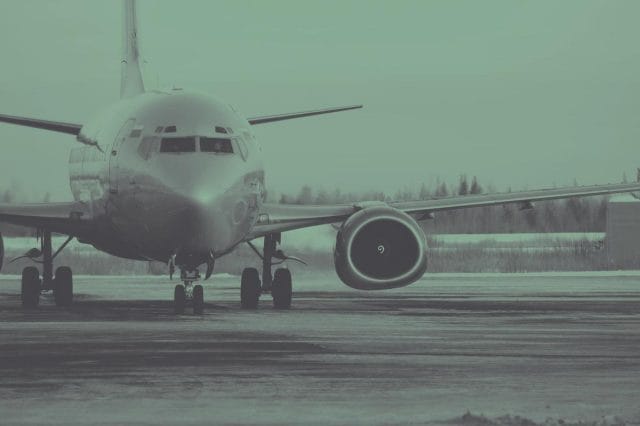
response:
<path id="1" fill-rule="evenodd" d="M 43 291 L 53 291 L 56 305 L 69 307 L 73 302 L 73 274 L 71 268 L 60 266 L 53 274 L 53 259 L 69 244 L 73 237 L 69 237 L 60 248 L 53 253 L 51 247 L 51 232 L 38 231 L 40 250 L 31 249 L 24 256 L 13 261 L 29 258 L 42 264 L 42 277 L 35 266 L 27 266 L 22 270 L 21 299 L 22 307 L 34 309 L 40 303 L 40 294 Z M 42 257 L 42 260 L 38 258 Z"/>

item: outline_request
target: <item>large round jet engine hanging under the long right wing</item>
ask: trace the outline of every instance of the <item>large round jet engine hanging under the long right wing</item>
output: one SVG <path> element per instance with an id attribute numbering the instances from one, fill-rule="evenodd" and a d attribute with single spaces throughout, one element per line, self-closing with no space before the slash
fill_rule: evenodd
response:
<path id="1" fill-rule="evenodd" d="M 387 205 L 367 207 L 338 231 L 334 263 L 346 285 L 358 290 L 404 287 L 427 270 L 427 241 L 408 214 Z"/>

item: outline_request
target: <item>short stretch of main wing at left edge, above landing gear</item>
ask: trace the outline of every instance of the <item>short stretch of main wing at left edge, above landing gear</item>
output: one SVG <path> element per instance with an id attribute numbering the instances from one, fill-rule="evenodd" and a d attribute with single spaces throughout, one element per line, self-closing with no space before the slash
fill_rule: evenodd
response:
<path id="1" fill-rule="evenodd" d="M 42 228 L 60 234 L 82 234 L 90 220 L 87 207 L 78 202 L 0 204 L 0 222 Z"/>

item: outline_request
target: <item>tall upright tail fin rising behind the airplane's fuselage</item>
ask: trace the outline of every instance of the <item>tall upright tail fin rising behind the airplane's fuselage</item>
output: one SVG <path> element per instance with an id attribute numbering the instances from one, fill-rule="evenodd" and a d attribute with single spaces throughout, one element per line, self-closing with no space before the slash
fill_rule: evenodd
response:
<path id="1" fill-rule="evenodd" d="M 144 92 L 139 63 L 140 50 L 138 47 L 136 0 L 123 0 L 122 18 L 120 98 L 129 98 Z"/>

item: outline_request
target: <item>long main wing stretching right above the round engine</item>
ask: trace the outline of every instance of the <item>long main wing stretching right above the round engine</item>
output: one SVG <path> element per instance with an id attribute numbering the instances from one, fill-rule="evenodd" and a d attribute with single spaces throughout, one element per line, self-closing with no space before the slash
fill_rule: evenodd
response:
<path id="1" fill-rule="evenodd" d="M 389 206 L 405 213 L 427 217 L 429 213 L 443 210 L 456 210 L 470 207 L 495 206 L 502 204 L 525 204 L 534 201 L 557 200 L 562 198 L 609 195 L 640 191 L 640 183 L 576 186 L 566 188 L 539 189 L 533 191 L 507 192 L 487 195 L 464 195 L 438 198 L 424 201 L 390 202 Z M 337 223 L 351 214 L 365 208 L 370 203 L 334 206 L 300 206 L 285 204 L 264 204 L 260 220 L 247 237 L 247 240 L 262 237 L 270 233 L 291 231 L 326 223 Z M 379 202 L 371 203 L 379 205 Z"/>

